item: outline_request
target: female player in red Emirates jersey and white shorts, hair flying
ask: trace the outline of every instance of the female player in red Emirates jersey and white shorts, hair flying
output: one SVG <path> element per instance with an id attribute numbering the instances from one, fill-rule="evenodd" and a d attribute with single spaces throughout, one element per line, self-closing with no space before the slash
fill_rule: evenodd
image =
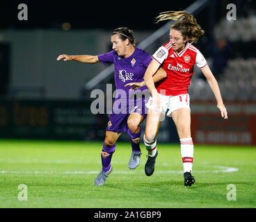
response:
<path id="1" fill-rule="evenodd" d="M 144 80 L 150 90 L 151 97 L 147 103 L 150 112 L 147 114 L 144 143 L 148 151 L 145 174 L 154 173 L 157 158 L 157 133 L 164 115 L 172 117 L 177 128 L 181 144 L 184 167 L 184 185 L 191 186 L 195 179 L 191 175 L 193 164 L 193 140 L 191 138 L 191 111 L 189 107 L 188 87 L 196 64 L 205 75 L 217 101 L 221 116 L 227 119 L 227 110 L 223 104 L 221 92 L 214 75 L 211 73 L 202 53 L 193 46 L 203 31 L 193 15 L 188 12 L 161 12 L 157 22 L 173 19 L 179 20 L 170 26 L 170 41 L 163 44 L 152 56 Z M 152 76 L 160 66 L 167 77 L 154 84 Z M 166 113 L 167 111 L 167 113 Z"/>

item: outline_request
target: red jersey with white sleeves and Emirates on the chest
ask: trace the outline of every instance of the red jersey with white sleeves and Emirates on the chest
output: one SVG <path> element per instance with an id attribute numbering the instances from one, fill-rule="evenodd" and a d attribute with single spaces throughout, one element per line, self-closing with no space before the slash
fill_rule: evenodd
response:
<path id="1" fill-rule="evenodd" d="M 163 65 L 167 73 L 166 78 L 155 83 L 157 92 L 160 94 L 165 92 L 166 96 L 187 94 L 194 65 L 198 65 L 200 69 L 207 65 L 202 53 L 188 42 L 179 53 L 173 50 L 171 42 L 167 42 L 154 53 L 152 58 Z"/>

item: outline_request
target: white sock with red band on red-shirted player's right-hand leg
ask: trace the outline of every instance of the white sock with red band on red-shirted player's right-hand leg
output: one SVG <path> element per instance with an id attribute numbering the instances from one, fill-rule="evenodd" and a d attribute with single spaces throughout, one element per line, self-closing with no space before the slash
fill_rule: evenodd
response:
<path id="1" fill-rule="evenodd" d="M 179 139 L 184 173 L 192 172 L 194 146 L 192 138 Z"/>

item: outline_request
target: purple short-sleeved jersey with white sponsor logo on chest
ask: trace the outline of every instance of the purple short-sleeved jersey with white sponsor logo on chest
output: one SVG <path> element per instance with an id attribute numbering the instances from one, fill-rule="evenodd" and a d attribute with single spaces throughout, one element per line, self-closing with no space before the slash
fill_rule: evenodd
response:
<path id="1" fill-rule="evenodd" d="M 115 65 L 115 88 L 125 90 L 127 96 L 131 87 L 125 87 L 127 83 L 142 82 L 145 71 L 152 60 L 150 54 L 135 47 L 134 53 L 128 58 L 118 56 L 115 51 L 98 56 L 104 65 L 114 63 Z M 141 87 L 141 91 L 146 86 Z"/>

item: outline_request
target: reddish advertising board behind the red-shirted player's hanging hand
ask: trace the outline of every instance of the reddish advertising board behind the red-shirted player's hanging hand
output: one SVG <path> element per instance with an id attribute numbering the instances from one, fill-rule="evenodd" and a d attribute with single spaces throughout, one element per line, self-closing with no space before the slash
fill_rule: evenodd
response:
<path id="1" fill-rule="evenodd" d="M 225 102 L 222 119 L 214 102 L 191 104 L 191 132 L 195 144 L 256 144 L 256 103 Z"/>

